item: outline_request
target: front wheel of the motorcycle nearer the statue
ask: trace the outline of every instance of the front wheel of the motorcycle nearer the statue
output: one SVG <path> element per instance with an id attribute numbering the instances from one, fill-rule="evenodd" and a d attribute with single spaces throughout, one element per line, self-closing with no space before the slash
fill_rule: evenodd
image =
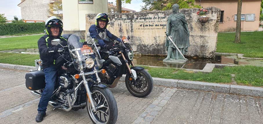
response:
<path id="1" fill-rule="evenodd" d="M 128 74 L 125 77 L 125 84 L 128 91 L 135 97 L 146 97 L 153 90 L 153 78 L 146 70 L 137 70 L 137 83 L 130 80 Z"/>

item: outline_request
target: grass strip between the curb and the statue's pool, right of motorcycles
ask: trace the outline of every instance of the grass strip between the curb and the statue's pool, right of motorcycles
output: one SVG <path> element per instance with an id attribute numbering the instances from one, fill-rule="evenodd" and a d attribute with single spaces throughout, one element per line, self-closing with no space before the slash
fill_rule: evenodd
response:
<path id="1" fill-rule="evenodd" d="M 263 67 L 257 66 L 226 66 L 223 69 L 214 68 L 211 73 L 189 73 L 174 68 L 152 68 L 144 66 L 152 77 L 182 79 L 190 81 L 231 83 L 231 74 L 235 74 L 235 81 L 242 85 L 263 86 Z"/>

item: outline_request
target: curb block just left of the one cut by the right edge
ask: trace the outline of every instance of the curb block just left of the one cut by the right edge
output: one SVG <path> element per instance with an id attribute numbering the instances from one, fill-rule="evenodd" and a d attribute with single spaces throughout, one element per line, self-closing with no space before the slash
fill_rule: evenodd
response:
<path id="1" fill-rule="evenodd" d="M 195 81 L 179 80 L 177 82 L 177 87 L 179 87 L 179 88 L 186 88 L 186 89 L 194 89 L 194 90 L 205 90 L 205 91 L 213 91 L 213 92 L 222 92 L 222 93 L 229 93 L 230 92 L 230 85 L 206 83 L 206 82 L 195 82 Z"/>

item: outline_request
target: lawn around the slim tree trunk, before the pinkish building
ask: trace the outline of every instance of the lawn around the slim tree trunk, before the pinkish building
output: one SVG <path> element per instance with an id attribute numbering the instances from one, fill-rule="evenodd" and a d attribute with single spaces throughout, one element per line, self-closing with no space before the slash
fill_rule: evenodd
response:
<path id="1" fill-rule="evenodd" d="M 234 43 L 235 33 L 218 33 L 220 53 L 242 53 L 244 57 L 263 58 L 263 32 L 241 32 L 240 43 Z"/>

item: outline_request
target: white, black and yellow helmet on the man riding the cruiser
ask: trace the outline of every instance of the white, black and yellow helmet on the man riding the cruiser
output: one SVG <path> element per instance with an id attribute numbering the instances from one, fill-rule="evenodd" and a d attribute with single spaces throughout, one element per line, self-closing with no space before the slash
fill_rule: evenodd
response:
<path id="1" fill-rule="evenodd" d="M 48 34 L 48 36 L 52 36 L 52 32 L 50 31 L 50 27 L 59 27 L 59 35 L 58 37 L 60 37 L 62 30 L 63 30 L 63 22 L 60 20 L 59 17 L 56 16 L 51 16 L 47 19 L 46 23 L 46 32 Z"/>

